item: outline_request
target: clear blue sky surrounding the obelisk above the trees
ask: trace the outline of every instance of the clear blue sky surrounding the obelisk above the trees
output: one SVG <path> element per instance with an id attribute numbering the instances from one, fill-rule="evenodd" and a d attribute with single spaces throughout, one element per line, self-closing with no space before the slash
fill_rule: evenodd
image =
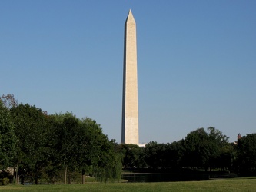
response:
<path id="1" fill-rule="evenodd" d="M 256 1 L 0 0 L 0 94 L 121 141 L 124 24 L 137 23 L 140 142 L 256 132 Z"/>

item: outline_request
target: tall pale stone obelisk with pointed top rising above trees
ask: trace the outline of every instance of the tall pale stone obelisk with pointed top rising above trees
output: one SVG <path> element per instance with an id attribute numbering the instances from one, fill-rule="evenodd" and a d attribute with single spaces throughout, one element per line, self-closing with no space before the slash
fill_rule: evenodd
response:
<path id="1" fill-rule="evenodd" d="M 138 144 L 136 23 L 131 10 L 125 22 L 121 143 Z"/>

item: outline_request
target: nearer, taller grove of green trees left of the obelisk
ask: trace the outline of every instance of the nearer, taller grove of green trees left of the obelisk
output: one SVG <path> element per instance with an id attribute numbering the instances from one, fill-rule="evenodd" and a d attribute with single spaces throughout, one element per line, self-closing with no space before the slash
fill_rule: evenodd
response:
<path id="1" fill-rule="evenodd" d="M 87 172 L 99 180 L 120 179 L 121 156 L 96 121 L 79 119 L 68 112 L 48 115 L 29 104 L 8 106 L 1 101 L 2 167 L 15 165 L 18 175 L 34 180 L 35 184 L 45 174 L 54 182 L 60 170 L 79 171 L 84 176 Z M 4 147 L 4 144 L 12 146 Z"/>

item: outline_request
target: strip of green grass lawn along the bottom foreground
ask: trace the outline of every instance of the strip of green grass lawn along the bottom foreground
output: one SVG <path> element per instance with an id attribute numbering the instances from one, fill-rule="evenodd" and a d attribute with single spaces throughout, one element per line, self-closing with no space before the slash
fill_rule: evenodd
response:
<path id="1" fill-rule="evenodd" d="M 256 177 L 163 183 L 88 183 L 38 186 L 8 185 L 0 186 L 0 191 L 256 191 Z"/>

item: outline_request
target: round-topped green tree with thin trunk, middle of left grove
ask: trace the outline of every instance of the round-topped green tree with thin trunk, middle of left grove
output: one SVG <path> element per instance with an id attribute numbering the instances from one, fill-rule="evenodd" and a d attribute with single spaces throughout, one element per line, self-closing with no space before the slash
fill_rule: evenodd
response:
<path id="1" fill-rule="evenodd" d="M 74 114 L 54 114 L 50 116 L 52 121 L 52 147 L 55 149 L 55 160 L 52 170 L 48 170 L 55 176 L 55 170 L 64 169 L 64 183 L 67 184 L 68 171 L 76 171 L 82 162 L 87 159 L 85 151 L 88 149 L 88 130 L 83 126 L 81 120 Z"/>

